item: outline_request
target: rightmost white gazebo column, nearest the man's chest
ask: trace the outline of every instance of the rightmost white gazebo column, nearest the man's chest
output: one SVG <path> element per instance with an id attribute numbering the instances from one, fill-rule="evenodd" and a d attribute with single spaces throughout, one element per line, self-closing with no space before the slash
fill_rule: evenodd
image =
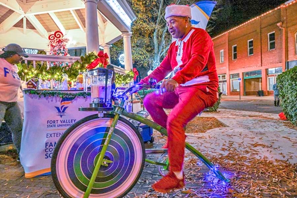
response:
<path id="1" fill-rule="evenodd" d="M 130 71 L 133 68 L 132 64 L 132 49 L 131 49 L 132 32 L 123 33 L 124 53 L 125 53 L 125 69 Z"/>

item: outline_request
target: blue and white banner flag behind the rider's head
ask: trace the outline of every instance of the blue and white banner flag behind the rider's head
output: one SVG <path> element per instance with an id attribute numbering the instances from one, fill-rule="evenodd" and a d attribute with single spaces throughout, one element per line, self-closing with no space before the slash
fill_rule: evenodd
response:
<path id="1" fill-rule="evenodd" d="M 193 3 L 191 7 L 192 26 L 195 28 L 206 29 L 211 12 L 216 5 L 216 1 L 201 0 Z"/>

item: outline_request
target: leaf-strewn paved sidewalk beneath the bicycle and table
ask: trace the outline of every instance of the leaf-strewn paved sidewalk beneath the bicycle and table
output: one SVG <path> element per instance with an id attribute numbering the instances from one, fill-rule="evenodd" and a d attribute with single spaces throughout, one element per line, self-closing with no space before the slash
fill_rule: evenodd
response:
<path id="1" fill-rule="evenodd" d="M 187 142 L 197 148 L 223 174 L 224 184 L 193 154 L 186 152 L 186 189 L 156 194 L 151 185 L 159 180 L 157 166 L 146 164 L 138 184 L 126 198 L 297 198 L 297 130 L 286 127 L 277 114 L 219 109 L 203 112 L 226 125 L 205 133 L 187 133 Z M 164 139 L 155 136 L 150 147 L 160 148 Z M 148 145 L 149 146 L 149 145 Z M 149 155 L 155 160 L 159 155 Z M 295 163 L 295 165 L 293 165 Z M 24 178 L 15 159 L 0 156 L 0 198 L 59 198 L 51 176 Z"/>

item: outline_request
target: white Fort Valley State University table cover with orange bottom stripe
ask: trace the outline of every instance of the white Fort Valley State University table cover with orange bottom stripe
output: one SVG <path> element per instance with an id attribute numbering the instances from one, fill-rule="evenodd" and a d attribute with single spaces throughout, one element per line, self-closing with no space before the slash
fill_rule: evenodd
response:
<path id="1" fill-rule="evenodd" d="M 91 97 L 39 98 L 24 94 L 20 161 L 26 178 L 50 172 L 53 149 L 65 130 L 80 119 L 96 113 L 78 110 L 81 106 L 88 107 L 90 102 Z"/>

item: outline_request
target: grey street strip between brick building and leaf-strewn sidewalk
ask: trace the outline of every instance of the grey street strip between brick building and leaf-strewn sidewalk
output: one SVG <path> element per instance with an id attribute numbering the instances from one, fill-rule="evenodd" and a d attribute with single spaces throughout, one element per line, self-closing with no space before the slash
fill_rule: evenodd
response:
<path id="1" fill-rule="evenodd" d="M 259 97 L 257 97 L 259 98 Z M 273 100 L 226 100 L 222 99 L 220 108 L 256 111 L 263 113 L 277 113 L 282 112 L 282 107 L 275 107 Z"/>

